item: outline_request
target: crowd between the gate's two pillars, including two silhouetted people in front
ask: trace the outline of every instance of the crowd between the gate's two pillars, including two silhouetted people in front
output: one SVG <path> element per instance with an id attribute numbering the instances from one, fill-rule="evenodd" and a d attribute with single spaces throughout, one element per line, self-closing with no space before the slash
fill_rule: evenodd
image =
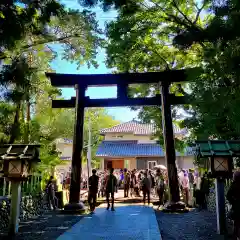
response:
<path id="1" fill-rule="evenodd" d="M 154 175 L 151 170 L 137 171 L 136 169 L 129 171 L 127 169 L 120 169 L 114 171 L 110 169 L 109 174 L 104 172 L 96 173 L 93 170 L 93 175 L 89 178 L 89 206 L 91 211 L 94 210 L 96 204 L 96 197 L 106 197 L 107 209 L 110 208 L 111 196 L 111 209 L 114 211 L 114 193 L 119 188 L 124 189 L 124 198 L 141 197 L 143 195 L 143 202 L 145 204 L 146 198 L 150 204 L 150 195 L 158 194 L 159 201 L 163 201 L 164 192 L 164 177 L 161 171 L 156 171 Z M 97 189 L 97 190 L 96 190 Z"/>

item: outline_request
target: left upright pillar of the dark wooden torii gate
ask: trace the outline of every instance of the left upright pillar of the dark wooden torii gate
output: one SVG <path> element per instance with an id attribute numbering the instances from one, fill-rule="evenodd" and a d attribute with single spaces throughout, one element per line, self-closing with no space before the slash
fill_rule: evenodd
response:
<path id="1" fill-rule="evenodd" d="M 79 203 L 82 172 L 83 124 L 85 87 L 76 87 L 76 116 L 73 137 L 70 204 Z"/>

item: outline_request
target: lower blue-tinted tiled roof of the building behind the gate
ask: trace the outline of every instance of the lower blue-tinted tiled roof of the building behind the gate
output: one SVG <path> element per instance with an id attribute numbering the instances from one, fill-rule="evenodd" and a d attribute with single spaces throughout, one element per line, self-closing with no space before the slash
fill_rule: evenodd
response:
<path id="1" fill-rule="evenodd" d="M 184 154 L 176 152 L 177 156 L 192 156 L 191 148 L 186 148 Z M 103 141 L 98 147 L 97 157 L 163 157 L 164 151 L 159 144 L 136 141 Z"/>

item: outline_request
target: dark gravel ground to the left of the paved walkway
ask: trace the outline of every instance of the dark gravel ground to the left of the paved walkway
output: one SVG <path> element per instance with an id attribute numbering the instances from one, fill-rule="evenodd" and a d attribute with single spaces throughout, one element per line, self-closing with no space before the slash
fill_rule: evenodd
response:
<path id="1" fill-rule="evenodd" d="M 56 240 L 83 217 L 81 215 L 63 215 L 59 212 L 49 212 L 41 217 L 22 222 L 19 234 L 14 240 Z M 0 239 L 9 240 L 10 238 L 0 233 Z"/>

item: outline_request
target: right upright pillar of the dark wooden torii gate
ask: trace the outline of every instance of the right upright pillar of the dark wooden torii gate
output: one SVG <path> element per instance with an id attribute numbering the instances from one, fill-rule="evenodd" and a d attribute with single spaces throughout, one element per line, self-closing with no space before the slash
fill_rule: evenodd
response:
<path id="1" fill-rule="evenodd" d="M 180 201 L 178 175 L 176 167 L 176 153 L 174 147 L 174 133 L 172 124 L 171 103 L 169 94 L 169 83 L 161 83 L 162 100 L 162 125 L 165 145 L 165 158 L 167 161 L 168 182 L 170 190 L 170 201 Z"/>

